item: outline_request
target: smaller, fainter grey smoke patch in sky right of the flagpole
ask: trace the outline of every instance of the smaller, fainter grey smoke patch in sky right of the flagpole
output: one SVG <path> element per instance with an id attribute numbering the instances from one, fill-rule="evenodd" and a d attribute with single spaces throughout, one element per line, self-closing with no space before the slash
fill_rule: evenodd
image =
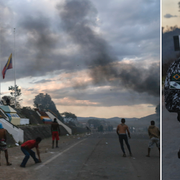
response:
<path id="1" fill-rule="evenodd" d="M 41 67 L 49 61 L 50 52 L 56 46 L 57 39 L 50 28 L 50 20 L 42 14 L 36 16 L 27 16 L 20 22 L 21 28 L 27 33 L 28 47 L 35 48 L 36 67 Z"/>

